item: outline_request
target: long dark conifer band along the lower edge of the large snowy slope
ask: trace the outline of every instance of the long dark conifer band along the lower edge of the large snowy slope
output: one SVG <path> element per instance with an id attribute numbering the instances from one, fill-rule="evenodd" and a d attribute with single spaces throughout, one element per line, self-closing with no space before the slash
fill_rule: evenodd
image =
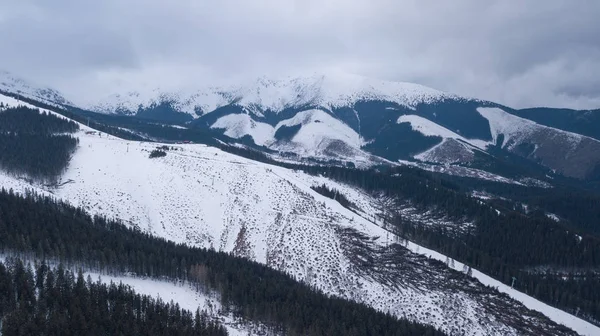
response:
<path id="1" fill-rule="evenodd" d="M 367 306 L 328 297 L 267 266 L 190 248 L 30 194 L 0 192 L 0 252 L 91 269 L 199 281 L 225 309 L 288 335 L 443 335 Z"/>

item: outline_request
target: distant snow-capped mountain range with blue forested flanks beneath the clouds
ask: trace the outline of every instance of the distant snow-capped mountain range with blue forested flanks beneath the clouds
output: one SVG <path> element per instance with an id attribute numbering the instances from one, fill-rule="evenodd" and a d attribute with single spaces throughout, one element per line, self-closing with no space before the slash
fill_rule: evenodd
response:
<path id="1" fill-rule="evenodd" d="M 411 83 L 312 75 L 73 103 L 9 73 L 0 91 L 78 111 L 213 130 L 269 153 L 355 165 L 466 167 L 516 180 L 600 179 L 600 110 L 516 110 Z M 72 102 L 73 101 L 73 102 Z"/>

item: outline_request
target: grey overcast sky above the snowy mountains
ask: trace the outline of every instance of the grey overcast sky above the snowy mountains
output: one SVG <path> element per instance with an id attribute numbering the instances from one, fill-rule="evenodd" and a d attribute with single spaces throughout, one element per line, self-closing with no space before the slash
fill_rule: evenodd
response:
<path id="1" fill-rule="evenodd" d="M 95 97 L 330 70 L 600 107 L 598 0 L 0 0 L 0 69 Z"/>

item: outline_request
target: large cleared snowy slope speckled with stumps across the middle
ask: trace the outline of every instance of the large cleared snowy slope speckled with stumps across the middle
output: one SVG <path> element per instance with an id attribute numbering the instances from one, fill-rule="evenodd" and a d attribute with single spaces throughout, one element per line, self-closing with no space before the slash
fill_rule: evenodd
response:
<path id="1" fill-rule="evenodd" d="M 376 217 L 376 199 L 360 190 L 204 145 L 176 145 L 166 157 L 150 159 L 156 143 L 89 135 L 86 129 L 83 126 L 77 134 L 80 145 L 60 187 L 31 186 L 5 174 L 0 174 L 0 186 L 19 192 L 35 188 L 154 235 L 231 252 L 287 272 L 324 293 L 448 332 L 519 334 L 498 316 L 484 313 L 488 298 L 429 285 L 402 286 L 358 269 L 345 250 L 347 241 L 340 230 L 372 238 L 375 248 L 398 240 L 371 218 Z M 323 183 L 352 197 L 360 211 L 350 211 L 310 188 Z M 446 259 L 412 243 L 409 248 Z M 454 268 L 462 267 L 458 265 Z M 502 290 L 499 282 L 476 271 L 473 274 Z M 444 281 L 443 277 L 437 280 Z M 599 328 L 574 316 L 522 294 L 508 293 L 584 335 L 600 334 Z M 536 321 L 523 318 L 523 323 Z"/>

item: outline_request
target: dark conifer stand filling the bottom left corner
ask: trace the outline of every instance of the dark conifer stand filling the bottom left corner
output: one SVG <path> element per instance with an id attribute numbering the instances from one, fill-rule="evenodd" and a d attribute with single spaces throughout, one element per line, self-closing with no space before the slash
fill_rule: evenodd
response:
<path id="1" fill-rule="evenodd" d="M 41 262 L 0 262 L 0 334 L 227 335 L 205 311 L 183 310 L 123 284 L 104 284 Z"/>

